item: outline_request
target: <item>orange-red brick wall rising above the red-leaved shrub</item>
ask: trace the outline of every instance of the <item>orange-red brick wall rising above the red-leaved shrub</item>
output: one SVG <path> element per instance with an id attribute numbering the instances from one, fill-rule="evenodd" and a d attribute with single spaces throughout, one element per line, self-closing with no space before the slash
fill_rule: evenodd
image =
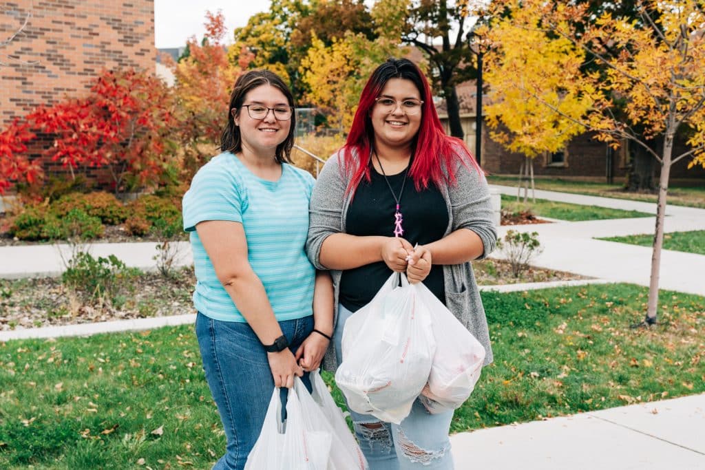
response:
<path id="1" fill-rule="evenodd" d="M 104 68 L 154 73 L 154 0 L 16 0 L 0 4 L 0 126 L 80 94 Z"/>

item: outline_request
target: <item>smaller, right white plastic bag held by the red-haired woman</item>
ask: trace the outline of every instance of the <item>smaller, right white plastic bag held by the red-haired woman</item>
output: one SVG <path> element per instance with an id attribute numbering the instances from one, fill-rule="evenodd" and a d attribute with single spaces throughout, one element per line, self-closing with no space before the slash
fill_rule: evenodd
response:
<path id="1" fill-rule="evenodd" d="M 436 338 L 429 383 L 421 400 L 431 413 L 456 409 L 470 397 L 480 377 L 484 347 L 428 287 L 418 283 L 414 288 L 419 302 L 431 313 Z"/>

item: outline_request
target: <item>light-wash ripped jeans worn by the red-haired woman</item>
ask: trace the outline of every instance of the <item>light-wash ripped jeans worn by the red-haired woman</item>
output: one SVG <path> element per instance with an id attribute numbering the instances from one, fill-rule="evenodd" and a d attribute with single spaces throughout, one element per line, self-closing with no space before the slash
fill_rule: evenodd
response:
<path id="1" fill-rule="evenodd" d="M 338 364 L 342 361 L 343 328 L 352 314 L 338 304 L 338 322 L 333 332 Z M 448 439 L 453 412 L 430 414 L 416 400 L 409 416 L 398 425 L 353 411 L 350 417 L 370 470 L 453 469 Z"/>

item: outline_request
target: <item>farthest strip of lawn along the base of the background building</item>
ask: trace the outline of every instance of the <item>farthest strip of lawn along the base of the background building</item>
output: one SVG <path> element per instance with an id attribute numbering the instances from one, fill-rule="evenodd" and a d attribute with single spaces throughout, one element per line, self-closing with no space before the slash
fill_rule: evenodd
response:
<path id="1" fill-rule="evenodd" d="M 518 178 L 513 176 L 489 175 L 490 184 L 516 186 Z M 576 194 L 589 194 L 591 196 L 615 197 L 618 199 L 631 199 L 633 201 L 656 202 L 656 194 L 642 194 L 626 192 L 621 183 L 608 185 L 606 183 L 591 183 L 587 181 L 561 180 L 538 178 L 534 180 L 537 190 L 573 192 Z M 529 192 L 529 194 L 531 194 Z M 705 209 L 705 185 L 699 186 L 671 186 L 668 188 L 668 204 L 675 206 L 700 207 Z"/>

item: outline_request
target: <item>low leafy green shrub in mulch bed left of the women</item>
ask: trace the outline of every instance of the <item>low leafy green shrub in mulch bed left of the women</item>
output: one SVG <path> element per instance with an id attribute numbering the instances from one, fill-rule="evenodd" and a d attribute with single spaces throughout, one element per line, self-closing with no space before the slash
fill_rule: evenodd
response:
<path id="1" fill-rule="evenodd" d="M 96 259 L 86 251 L 78 251 L 68 260 L 61 281 L 87 299 L 109 302 L 131 287 L 139 273 L 139 269 L 128 268 L 114 254 Z"/>

